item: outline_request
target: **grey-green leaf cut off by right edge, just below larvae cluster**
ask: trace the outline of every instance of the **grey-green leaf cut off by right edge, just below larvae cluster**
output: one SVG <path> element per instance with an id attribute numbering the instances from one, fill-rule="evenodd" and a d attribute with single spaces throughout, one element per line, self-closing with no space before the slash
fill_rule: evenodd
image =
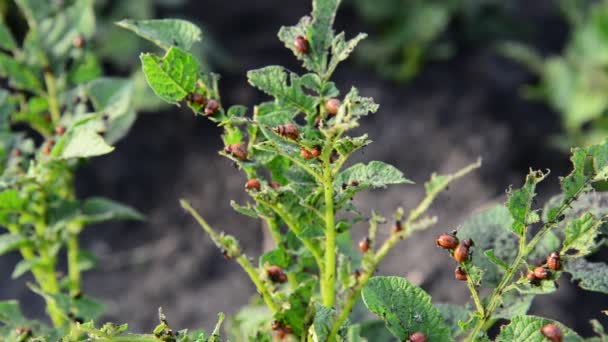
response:
<path id="1" fill-rule="evenodd" d="M 603 262 L 589 262 L 584 258 L 568 259 L 564 271 L 572 274 L 573 281 L 587 291 L 608 293 L 608 265 Z"/>

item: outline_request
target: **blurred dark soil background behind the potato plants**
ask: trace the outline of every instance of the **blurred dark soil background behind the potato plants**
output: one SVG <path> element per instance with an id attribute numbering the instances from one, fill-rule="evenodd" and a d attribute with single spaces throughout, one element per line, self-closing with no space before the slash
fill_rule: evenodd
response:
<path id="1" fill-rule="evenodd" d="M 276 32 L 309 13 L 309 3 L 191 0 L 185 8 L 158 16 L 204 23 L 233 61 L 219 70 L 224 104 L 251 106 L 264 97 L 248 86 L 247 70 L 269 64 L 301 70 Z M 513 1 L 510 15 L 529 29 L 529 43 L 546 54 L 561 50 L 568 31 L 553 1 Z M 370 31 L 347 6 L 337 24 L 349 34 Z M 453 26 L 449 34 L 458 42 L 459 27 Z M 434 247 L 434 236 L 502 201 L 505 189 L 520 185 L 529 167 L 552 170 L 551 180 L 540 189 L 542 200 L 557 193 L 557 176 L 568 168 L 568 156 L 546 143 L 559 131 L 557 114 L 520 96 L 521 86 L 534 78 L 498 56 L 491 43 L 460 41 L 454 58 L 426 65 L 408 84 L 387 82 L 352 62 L 336 73 L 341 89 L 356 85 L 381 104 L 361 128 L 375 143 L 357 159 L 392 163 L 417 183 L 365 193 L 357 200 L 364 210 L 390 215 L 397 206 L 411 207 L 421 198 L 431 172 L 451 172 L 483 158 L 479 172 L 455 183 L 437 200 L 432 213 L 439 224 L 403 242 L 381 266 L 381 274 L 407 277 L 436 302 L 462 303 L 468 295 L 466 286 L 453 280 L 455 264 Z M 230 199 L 247 200 L 245 178 L 216 153 L 222 147 L 219 132 L 185 110 L 142 114 L 114 153 L 96 158 L 80 172 L 81 196 L 103 195 L 148 217 L 141 223 L 92 227 L 84 234 L 83 245 L 99 257 L 99 268 L 85 274 L 84 287 L 107 304 L 108 320 L 150 331 L 162 306 L 176 327 L 210 328 L 217 312 L 235 313 L 254 294 L 238 265 L 223 260 L 177 202 L 182 197 L 191 200 L 214 227 L 236 234 L 249 255 L 260 254 L 262 226 L 230 208 Z M 362 233 L 358 229 L 354 234 Z M 28 279 L 9 279 L 16 260 L 0 259 L 0 295 L 20 298 L 28 313 L 41 317 L 41 300 L 24 287 Z M 590 334 L 588 320 L 602 316 L 605 297 L 577 291 L 569 279 L 560 284 L 558 292 L 535 301 L 534 312 Z"/>

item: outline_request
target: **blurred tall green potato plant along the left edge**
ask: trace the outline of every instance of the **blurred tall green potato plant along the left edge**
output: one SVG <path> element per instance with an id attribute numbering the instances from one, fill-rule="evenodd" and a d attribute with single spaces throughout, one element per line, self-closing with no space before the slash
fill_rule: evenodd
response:
<path id="1" fill-rule="evenodd" d="M 92 259 L 79 248 L 88 225 L 142 219 L 134 209 L 75 195 L 76 170 L 112 152 L 135 119 L 127 79 L 102 78 L 93 41 L 92 0 L 18 0 L 27 21 L 17 38 L 0 20 L 0 254 L 18 253 L 12 277 L 31 273 L 52 327 L 23 317 L 16 302 L 0 305 L 0 339 L 56 341 L 72 321 L 98 319 L 103 306 L 82 294 Z M 87 103 L 92 104 L 87 105 Z M 25 129 L 24 129 L 25 127 Z M 58 272 L 67 256 L 67 274 Z M 68 339 L 76 340 L 76 339 Z"/>

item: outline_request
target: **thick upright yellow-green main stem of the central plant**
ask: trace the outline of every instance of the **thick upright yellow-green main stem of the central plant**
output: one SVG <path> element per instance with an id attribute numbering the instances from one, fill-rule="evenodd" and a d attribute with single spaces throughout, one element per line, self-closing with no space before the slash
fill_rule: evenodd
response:
<path id="1" fill-rule="evenodd" d="M 330 142 L 323 152 L 323 192 L 325 195 L 325 274 L 321 282 L 321 296 L 323 305 L 328 308 L 334 306 L 336 296 L 336 227 L 334 217 L 334 182 L 331 173 Z"/>

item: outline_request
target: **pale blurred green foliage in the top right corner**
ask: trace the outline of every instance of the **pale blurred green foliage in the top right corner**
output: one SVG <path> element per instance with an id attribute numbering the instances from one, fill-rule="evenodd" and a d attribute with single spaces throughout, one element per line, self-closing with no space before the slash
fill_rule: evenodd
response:
<path id="1" fill-rule="evenodd" d="M 539 83 L 527 87 L 526 95 L 546 102 L 559 114 L 564 132 L 553 142 L 567 150 L 599 143 L 608 132 L 608 3 L 558 3 L 571 27 L 561 54 L 543 58 L 519 43 L 505 44 L 502 50 L 539 76 Z"/>

